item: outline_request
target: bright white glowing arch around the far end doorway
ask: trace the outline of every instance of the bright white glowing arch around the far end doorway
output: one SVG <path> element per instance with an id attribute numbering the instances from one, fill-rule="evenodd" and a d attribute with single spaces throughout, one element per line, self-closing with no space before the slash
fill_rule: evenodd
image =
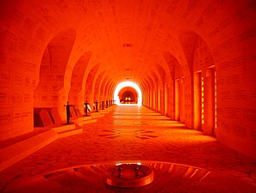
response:
<path id="1" fill-rule="evenodd" d="M 141 104 L 142 104 L 142 92 L 140 90 L 140 87 L 136 83 L 134 83 L 133 81 L 123 81 L 123 82 L 121 82 L 117 85 L 115 93 L 114 93 L 114 100 L 116 100 L 116 105 L 117 106 L 122 105 L 120 103 L 118 93 L 120 92 L 120 90 L 123 87 L 133 87 L 136 90 L 136 92 L 138 93 L 138 104 L 137 104 L 137 106 L 141 106 Z"/>

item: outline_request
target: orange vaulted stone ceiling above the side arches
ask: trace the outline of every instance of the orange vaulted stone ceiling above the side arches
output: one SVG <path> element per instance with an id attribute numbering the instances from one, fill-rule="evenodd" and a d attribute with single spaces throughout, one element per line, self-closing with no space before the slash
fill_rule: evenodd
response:
<path id="1" fill-rule="evenodd" d="M 252 10 L 247 11 L 248 14 L 255 15 L 253 2 L 3 0 L 0 12 L 3 25 L 12 32 L 19 32 L 14 41 L 21 41 L 22 51 L 30 49 L 29 54 L 34 54 L 34 58 L 28 57 L 30 62 L 40 65 L 41 56 L 51 39 L 66 29 L 72 29 L 76 32 L 76 39 L 66 66 L 70 69 L 66 71 L 66 80 L 72 79 L 72 69 L 79 58 L 91 51 L 88 65 L 92 66 L 89 69 L 100 63 L 99 70 L 105 70 L 108 78 L 116 84 L 120 81 L 141 84 L 146 81 L 147 75 L 152 76 L 152 72 L 159 74 L 159 67 L 156 67 L 159 64 L 165 73 L 170 74 L 166 69 L 172 67 L 165 61 L 165 52 L 176 58 L 183 73 L 189 72 L 187 65 L 190 61 L 187 59 L 193 54 L 190 51 L 193 51 L 195 37 L 202 37 L 210 51 L 216 49 L 218 41 L 228 39 L 225 34 L 230 34 L 232 30 L 236 33 L 236 29 L 243 25 L 237 9 L 242 11 L 247 8 Z M 220 30 L 223 32 L 218 33 Z M 22 45 L 22 42 L 28 46 Z M 239 45 L 237 42 L 234 44 Z M 31 49 L 30 45 L 34 45 L 35 49 Z M 186 45 L 190 46 L 186 48 Z"/>

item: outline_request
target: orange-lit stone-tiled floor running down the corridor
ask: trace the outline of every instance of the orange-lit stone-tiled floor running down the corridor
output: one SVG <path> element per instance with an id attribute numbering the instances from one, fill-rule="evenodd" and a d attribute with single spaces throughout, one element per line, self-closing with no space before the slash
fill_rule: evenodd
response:
<path id="1" fill-rule="evenodd" d="M 61 138 L 5 169 L 1 188 L 66 167 L 127 160 L 197 166 L 256 184 L 256 160 L 145 107 L 118 106 L 97 123 L 84 125 L 83 133 Z"/>

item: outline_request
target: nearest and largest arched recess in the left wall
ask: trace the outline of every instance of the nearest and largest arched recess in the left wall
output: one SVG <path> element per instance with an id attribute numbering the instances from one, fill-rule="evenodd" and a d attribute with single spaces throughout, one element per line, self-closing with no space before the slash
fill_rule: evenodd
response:
<path id="1" fill-rule="evenodd" d="M 75 39 L 76 31 L 69 28 L 58 33 L 45 47 L 39 83 L 34 90 L 34 107 L 59 107 L 66 103 L 65 72 Z M 59 97 L 60 94 L 63 96 Z"/>

